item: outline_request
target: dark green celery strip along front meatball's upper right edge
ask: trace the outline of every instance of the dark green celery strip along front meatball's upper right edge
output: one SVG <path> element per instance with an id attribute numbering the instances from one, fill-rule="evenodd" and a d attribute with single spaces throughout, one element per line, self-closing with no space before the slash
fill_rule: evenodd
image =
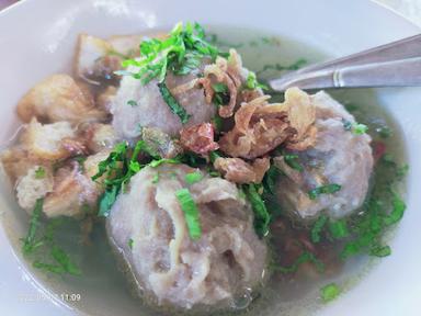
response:
<path id="1" fill-rule="evenodd" d="M 249 200 L 254 213 L 254 229 L 259 236 L 263 237 L 269 233 L 271 216 L 268 212 L 266 205 L 262 200 L 262 196 L 259 194 L 260 188 L 261 187 L 257 184 L 242 185 L 246 196 Z"/>

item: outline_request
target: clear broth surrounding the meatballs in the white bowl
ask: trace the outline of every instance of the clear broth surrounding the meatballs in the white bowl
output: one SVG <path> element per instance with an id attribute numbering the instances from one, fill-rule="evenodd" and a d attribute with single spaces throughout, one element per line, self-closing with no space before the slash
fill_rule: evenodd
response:
<path id="1" fill-rule="evenodd" d="M 217 42 L 221 48 L 235 47 L 242 56 L 243 65 L 260 74 L 261 79 L 270 79 L 282 74 L 282 71 L 266 70 L 261 72 L 265 65 L 280 64 L 283 66 L 292 65 L 297 59 L 304 58 L 307 64 L 312 64 L 329 59 L 329 55 L 316 50 L 303 43 L 297 43 L 289 38 L 277 37 L 273 34 L 261 33 L 252 30 L 225 27 L 209 27 L 209 33 L 217 34 Z M 385 140 L 398 161 L 405 160 L 403 142 L 401 140 L 400 129 L 394 123 L 392 117 L 379 105 L 375 90 L 353 89 L 343 91 L 329 91 L 332 97 L 343 104 L 357 104 L 359 109 L 353 112 L 360 123 L 369 127 L 369 134 L 374 138 L 376 128 L 379 125 L 390 127 L 394 133 Z M 379 176 L 375 174 L 375 178 Z M 375 181 L 382 181 L 376 179 Z M 23 212 L 22 210 L 15 210 Z M 22 221 L 27 221 L 25 214 L 20 215 Z M 7 223 L 3 223 L 8 226 Z M 81 246 L 80 228 L 75 221 L 68 221 L 60 227 L 57 237 L 80 264 L 83 272 L 82 276 L 56 276 L 46 275 L 29 267 L 31 273 L 43 281 L 44 285 L 55 293 L 56 298 L 62 301 L 61 294 L 79 294 L 79 300 L 65 300 L 66 304 L 88 315 L 168 315 L 149 309 L 130 294 L 130 289 L 126 283 L 125 276 L 118 269 L 118 263 L 107 245 L 107 238 L 103 223 L 94 225 L 91 235 L 92 244 Z M 25 224 L 27 225 L 27 224 Z M 19 238 L 11 230 L 10 238 L 20 252 L 21 245 Z M 330 282 L 338 282 L 343 287 L 349 289 L 373 267 L 374 262 L 368 256 L 353 257 L 333 274 L 316 276 L 310 280 L 288 280 L 283 282 L 280 278 L 273 278 L 268 286 L 260 293 L 259 297 L 244 311 L 227 313 L 227 315 L 309 315 L 320 309 L 323 304 L 319 300 L 319 289 Z M 30 266 L 30 264 L 29 264 Z M 220 315 L 220 313 L 218 313 Z"/>

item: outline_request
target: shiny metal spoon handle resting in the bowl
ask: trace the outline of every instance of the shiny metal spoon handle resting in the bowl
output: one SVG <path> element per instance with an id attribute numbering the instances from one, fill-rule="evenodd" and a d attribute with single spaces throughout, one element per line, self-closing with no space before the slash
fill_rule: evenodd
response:
<path id="1" fill-rule="evenodd" d="M 269 81 L 275 91 L 301 89 L 421 86 L 421 34 Z"/>

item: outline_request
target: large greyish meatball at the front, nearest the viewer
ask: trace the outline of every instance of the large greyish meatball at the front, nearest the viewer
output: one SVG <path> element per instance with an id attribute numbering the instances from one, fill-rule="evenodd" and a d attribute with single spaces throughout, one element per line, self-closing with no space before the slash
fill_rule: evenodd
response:
<path id="1" fill-rule="evenodd" d="M 185 165 L 143 169 L 112 207 L 107 234 L 147 301 L 163 307 L 227 307 L 262 281 L 266 246 L 234 183 L 201 172 L 203 179 L 189 185 L 191 172 L 201 171 Z M 175 198 L 183 188 L 200 210 L 198 240 L 189 236 Z"/>

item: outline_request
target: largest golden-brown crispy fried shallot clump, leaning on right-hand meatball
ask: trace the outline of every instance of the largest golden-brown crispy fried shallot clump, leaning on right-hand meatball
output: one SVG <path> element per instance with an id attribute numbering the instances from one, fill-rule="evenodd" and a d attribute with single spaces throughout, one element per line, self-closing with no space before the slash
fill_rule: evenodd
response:
<path id="1" fill-rule="evenodd" d="M 281 144 L 304 150 L 316 142 L 316 110 L 309 95 L 298 88 L 285 92 L 285 102 L 269 104 L 269 95 L 242 103 L 235 126 L 220 140 L 220 149 L 232 157 L 253 159 Z"/>

